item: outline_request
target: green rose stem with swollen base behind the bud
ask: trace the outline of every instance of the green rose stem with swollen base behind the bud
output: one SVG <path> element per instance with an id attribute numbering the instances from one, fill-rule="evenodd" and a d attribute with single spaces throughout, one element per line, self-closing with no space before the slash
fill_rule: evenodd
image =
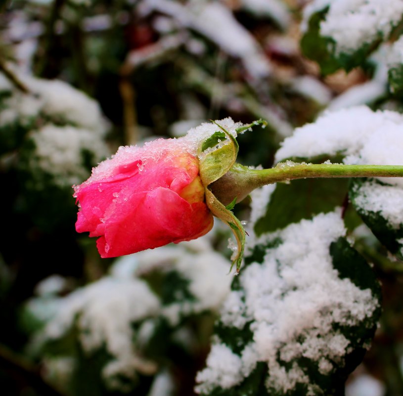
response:
<path id="1" fill-rule="evenodd" d="M 237 197 L 244 199 L 251 191 L 266 184 L 310 177 L 403 177 L 400 165 L 343 165 L 280 163 L 270 169 L 250 169 L 239 164 L 210 185 L 224 205 Z"/>

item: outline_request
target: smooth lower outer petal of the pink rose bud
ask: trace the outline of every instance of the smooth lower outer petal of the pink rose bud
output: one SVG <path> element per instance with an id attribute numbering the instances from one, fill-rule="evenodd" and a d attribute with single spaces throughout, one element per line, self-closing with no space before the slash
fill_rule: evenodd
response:
<path id="1" fill-rule="evenodd" d="M 103 258 L 123 256 L 194 239 L 208 232 L 212 224 L 213 216 L 204 203 L 190 205 L 176 192 L 159 187 L 133 193 L 124 204 L 114 203 L 97 248 Z"/>

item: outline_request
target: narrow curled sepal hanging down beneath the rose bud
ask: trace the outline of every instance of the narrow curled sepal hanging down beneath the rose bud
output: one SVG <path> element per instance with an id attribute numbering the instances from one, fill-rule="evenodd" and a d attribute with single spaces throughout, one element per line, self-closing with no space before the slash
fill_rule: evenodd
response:
<path id="1" fill-rule="evenodd" d="M 231 271 L 234 264 L 236 265 L 236 272 L 239 272 L 242 263 L 243 251 L 245 247 L 246 232 L 241 222 L 235 217 L 235 215 L 225 208 L 225 206 L 215 197 L 215 195 L 206 188 L 206 204 L 213 213 L 214 216 L 224 221 L 231 228 L 236 243 L 238 245 L 238 253 L 231 264 Z"/>

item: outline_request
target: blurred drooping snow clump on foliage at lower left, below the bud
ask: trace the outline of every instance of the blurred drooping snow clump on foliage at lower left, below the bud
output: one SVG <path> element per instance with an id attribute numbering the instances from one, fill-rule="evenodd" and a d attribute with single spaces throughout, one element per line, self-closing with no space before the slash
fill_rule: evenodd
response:
<path id="1" fill-rule="evenodd" d="M 103 376 L 113 388 L 114 377 L 136 372 L 150 374 L 155 364 L 138 356 L 133 346 L 132 323 L 155 315 L 159 301 L 138 279 L 104 277 L 59 299 L 56 316 L 46 325 L 39 339 L 62 337 L 76 323 L 79 340 L 86 352 L 105 345 L 114 359 L 103 368 Z"/>

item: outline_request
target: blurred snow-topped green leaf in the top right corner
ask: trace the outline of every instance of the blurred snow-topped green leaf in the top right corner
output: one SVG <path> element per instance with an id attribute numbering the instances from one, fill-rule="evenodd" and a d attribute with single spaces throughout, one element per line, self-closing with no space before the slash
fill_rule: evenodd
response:
<path id="1" fill-rule="evenodd" d="M 399 0 L 314 0 L 304 13 L 304 54 L 319 63 L 322 74 L 362 66 L 402 23 Z"/>

